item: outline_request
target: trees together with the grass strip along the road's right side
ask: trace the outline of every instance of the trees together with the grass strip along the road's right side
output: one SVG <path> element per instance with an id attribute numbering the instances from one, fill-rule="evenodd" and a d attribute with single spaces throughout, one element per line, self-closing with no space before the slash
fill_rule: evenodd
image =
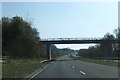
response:
<path id="1" fill-rule="evenodd" d="M 102 44 L 102 47 L 100 44 L 97 44 L 90 46 L 88 49 L 79 49 L 77 57 L 72 55 L 70 55 L 70 57 L 74 60 L 120 67 L 120 63 L 118 62 L 118 60 L 120 60 L 120 28 L 115 29 L 113 32 L 114 35 L 107 33 L 102 39 L 108 41 L 116 39 L 118 41 L 117 43 L 104 43 Z M 112 46 L 110 52 L 104 47 L 106 45 L 108 45 L 107 47 Z"/>

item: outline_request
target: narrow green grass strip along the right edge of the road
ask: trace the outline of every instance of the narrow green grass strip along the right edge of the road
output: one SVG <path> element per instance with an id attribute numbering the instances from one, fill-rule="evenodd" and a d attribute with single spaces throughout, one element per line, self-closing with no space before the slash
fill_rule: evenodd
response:
<path id="1" fill-rule="evenodd" d="M 103 60 L 98 60 L 98 59 L 80 58 L 80 57 L 71 57 L 71 58 L 73 58 L 74 60 L 80 60 L 80 61 L 85 61 L 85 62 L 118 67 L 118 62 L 115 62 L 115 61 L 103 61 Z"/>

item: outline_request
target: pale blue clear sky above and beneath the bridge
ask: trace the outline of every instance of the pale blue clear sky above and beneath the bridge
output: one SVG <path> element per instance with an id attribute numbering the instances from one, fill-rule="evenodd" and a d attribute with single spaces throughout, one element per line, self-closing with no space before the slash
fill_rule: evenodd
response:
<path id="1" fill-rule="evenodd" d="M 21 16 L 44 38 L 98 38 L 118 27 L 118 2 L 3 2 L 2 16 Z M 94 44 L 60 44 L 88 48 Z"/>

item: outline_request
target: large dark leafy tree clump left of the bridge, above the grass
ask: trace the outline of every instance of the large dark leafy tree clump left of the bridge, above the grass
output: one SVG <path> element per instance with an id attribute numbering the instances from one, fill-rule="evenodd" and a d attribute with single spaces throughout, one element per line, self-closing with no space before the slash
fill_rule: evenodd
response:
<path id="1" fill-rule="evenodd" d="M 2 18 L 3 55 L 13 58 L 43 57 L 39 33 L 22 17 Z"/>

